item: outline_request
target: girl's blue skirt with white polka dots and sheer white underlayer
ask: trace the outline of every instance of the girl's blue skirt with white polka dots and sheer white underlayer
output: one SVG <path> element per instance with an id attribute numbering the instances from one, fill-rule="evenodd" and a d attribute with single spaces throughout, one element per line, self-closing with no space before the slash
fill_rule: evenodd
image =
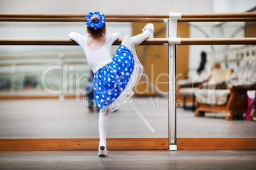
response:
<path id="1" fill-rule="evenodd" d="M 100 109 L 116 110 L 134 94 L 132 88 L 138 83 L 143 67 L 132 51 L 132 48 L 119 46 L 113 62 L 94 73 L 94 100 Z"/>

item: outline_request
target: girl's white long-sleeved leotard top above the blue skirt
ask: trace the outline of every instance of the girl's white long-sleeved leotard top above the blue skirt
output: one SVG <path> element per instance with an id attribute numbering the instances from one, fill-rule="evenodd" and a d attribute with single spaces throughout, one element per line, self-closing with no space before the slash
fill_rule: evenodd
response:
<path id="1" fill-rule="evenodd" d="M 69 33 L 69 38 L 73 39 L 73 41 L 76 41 L 80 46 L 82 46 L 83 51 L 85 51 L 85 55 L 87 57 L 87 62 L 89 64 L 90 69 L 92 69 L 93 72 L 96 72 L 107 63 L 110 63 L 113 61 L 110 53 L 111 46 L 113 42 L 115 42 L 119 38 L 119 34 L 118 33 L 105 34 L 106 41 L 104 45 L 97 51 L 91 51 L 88 48 L 87 46 L 88 37 L 89 36 L 83 36 L 76 32 Z"/>

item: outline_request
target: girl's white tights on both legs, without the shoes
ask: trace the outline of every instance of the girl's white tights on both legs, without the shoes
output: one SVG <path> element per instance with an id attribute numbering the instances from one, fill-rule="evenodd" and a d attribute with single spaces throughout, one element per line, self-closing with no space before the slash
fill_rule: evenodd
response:
<path id="1" fill-rule="evenodd" d="M 131 37 L 129 39 L 124 39 L 121 45 L 130 48 L 132 46 L 132 42 L 134 46 L 138 46 L 141 42 L 145 41 L 147 38 L 151 36 L 149 31 L 145 31 L 137 36 Z M 106 131 L 108 128 L 108 118 L 110 117 L 110 109 L 104 108 L 99 110 L 99 142 L 106 144 Z"/>

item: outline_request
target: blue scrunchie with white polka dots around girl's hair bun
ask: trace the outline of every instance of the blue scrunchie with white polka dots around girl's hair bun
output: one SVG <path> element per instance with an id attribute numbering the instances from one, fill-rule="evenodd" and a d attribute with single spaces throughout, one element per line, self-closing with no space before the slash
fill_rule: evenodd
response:
<path id="1" fill-rule="evenodd" d="M 91 22 L 90 18 L 92 17 L 92 15 L 99 15 L 99 22 L 97 22 L 97 23 Z M 104 24 L 106 22 L 106 16 L 104 16 L 103 13 L 99 13 L 99 12 L 92 13 L 92 12 L 90 12 L 85 17 L 85 20 L 86 20 L 87 27 L 90 27 L 90 29 L 92 29 L 92 27 L 94 27 L 94 30 L 97 30 L 97 29 L 101 29 L 104 26 Z"/>

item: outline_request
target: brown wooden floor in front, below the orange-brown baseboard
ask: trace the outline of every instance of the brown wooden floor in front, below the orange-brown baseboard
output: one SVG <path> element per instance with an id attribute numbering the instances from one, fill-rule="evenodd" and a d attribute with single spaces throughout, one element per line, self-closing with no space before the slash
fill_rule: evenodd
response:
<path id="1" fill-rule="evenodd" d="M 255 169 L 256 150 L 0 152 L 0 169 Z"/>

